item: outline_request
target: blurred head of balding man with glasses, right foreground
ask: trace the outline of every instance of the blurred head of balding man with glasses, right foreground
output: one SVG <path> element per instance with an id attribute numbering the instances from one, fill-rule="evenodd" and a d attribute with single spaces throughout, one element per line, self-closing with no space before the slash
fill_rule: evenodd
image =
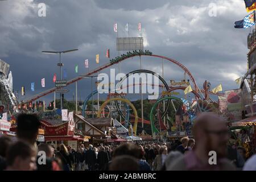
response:
<path id="1" fill-rule="evenodd" d="M 195 120 L 192 134 L 197 143 L 195 150 L 201 157 L 208 156 L 209 151 L 216 151 L 218 158 L 226 156 L 228 128 L 217 114 L 201 113 Z"/>

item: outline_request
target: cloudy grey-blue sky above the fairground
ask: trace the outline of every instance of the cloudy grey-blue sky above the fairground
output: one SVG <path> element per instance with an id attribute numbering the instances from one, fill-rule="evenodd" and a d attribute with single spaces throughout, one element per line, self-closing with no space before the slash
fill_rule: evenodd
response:
<path id="1" fill-rule="evenodd" d="M 46 17 L 38 16 L 38 4 L 46 3 Z M 212 4 L 216 5 L 216 16 Z M 195 77 L 201 88 L 204 80 L 212 87 L 222 83 L 224 90 L 237 88 L 234 80 L 246 72 L 247 34 L 249 29 L 234 28 L 234 22 L 245 16 L 242 0 L 6 0 L 0 1 L 0 59 L 10 64 L 14 90 L 26 88 L 26 100 L 34 94 L 54 86 L 54 73 L 59 76 L 57 55 L 41 51 L 59 51 L 78 48 L 79 51 L 62 56 L 68 80 L 86 73 L 84 60 L 90 69 L 98 67 L 95 55 L 100 54 L 100 65 L 115 57 L 116 34 L 113 24 L 118 23 L 119 37 L 126 37 L 125 24 L 130 25 L 130 36 L 139 36 L 137 23 L 142 23 L 144 49 L 180 61 Z M 142 57 L 142 68 L 162 75 L 162 60 Z M 75 73 L 79 65 L 79 74 Z M 121 63 L 121 72 L 139 69 L 139 59 Z M 112 68 L 118 68 L 118 65 Z M 109 69 L 102 71 L 109 73 Z M 41 78 L 46 88 L 41 88 Z M 184 72 L 164 61 L 164 78 L 179 81 Z M 35 92 L 30 91 L 35 82 Z M 90 93 L 90 81 L 78 83 L 81 99 Z M 75 85 L 65 96 L 72 99 Z M 42 98 L 52 100 L 53 94 Z"/>

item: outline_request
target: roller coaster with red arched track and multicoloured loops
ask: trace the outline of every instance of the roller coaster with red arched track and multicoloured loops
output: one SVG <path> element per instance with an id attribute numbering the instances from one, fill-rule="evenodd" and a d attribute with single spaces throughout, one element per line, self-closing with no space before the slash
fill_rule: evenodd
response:
<path id="1" fill-rule="evenodd" d="M 153 134 L 159 134 L 161 133 L 161 131 L 163 130 L 167 130 L 167 126 L 166 123 L 162 122 L 162 119 L 165 119 L 166 117 L 168 118 L 170 113 L 175 113 L 175 116 L 172 116 L 172 120 L 177 120 L 177 118 L 180 118 L 181 120 L 183 120 L 182 117 L 184 117 L 185 113 L 187 113 L 188 118 L 191 119 L 192 115 L 195 115 L 195 111 L 199 111 L 200 109 L 198 109 L 198 107 L 201 107 L 201 101 L 204 100 L 204 98 L 202 99 L 201 96 L 203 96 L 203 93 L 206 92 L 205 90 L 201 90 L 199 88 L 199 86 L 196 84 L 195 78 L 192 76 L 191 72 L 189 72 L 188 68 L 186 68 L 183 64 L 179 63 L 178 61 L 171 59 L 169 57 L 165 57 L 165 56 L 159 56 L 159 55 L 154 55 L 152 52 L 150 51 L 133 51 L 133 52 L 127 52 L 126 54 L 122 54 L 121 56 L 115 57 L 115 59 L 111 59 L 109 61 L 108 64 L 104 64 L 101 65 L 100 67 L 93 69 L 92 71 L 85 73 L 83 75 L 81 75 L 80 77 L 75 77 L 69 81 L 67 81 L 67 85 L 71 85 L 77 81 L 80 81 L 83 79 L 83 77 L 85 76 L 91 76 L 94 73 L 98 73 L 106 68 L 112 67 L 114 64 L 118 64 L 121 61 L 130 59 L 132 57 L 142 57 L 142 56 L 150 56 L 150 57 L 156 57 L 156 58 L 160 58 L 161 60 L 167 60 L 170 61 L 171 63 L 177 65 L 179 68 L 183 69 L 183 71 L 189 76 L 189 80 L 192 82 L 192 94 L 194 94 L 195 96 L 195 102 L 197 105 L 197 109 L 195 109 L 195 104 L 193 104 L 192 102 L 189 102 L 187 100 L 181 100 L 180 98 L 177 97 L 170 97 L 170 96 L 162 96 L 159 100 L 157 100 L 155 102 L 155 104 L 152 106 L 151 112 L 150 112 L 150 125 L 151 125 L 151 132 L 152 135 Z M 159 60 L 159 59 L 156 59 Z M 146 69 L 138 69 L 135 71 L 132 71 L 130 73 L 127 73 L 127 75 L 123 78 L 121 78 L 121 80 L 118 82 L 116 88 L 121 88 L 122 82 L 127 79 L 129 76 L 135 74 L 135 73 L 148 73 L 148 74 L 152 74 L 154 75 L 155 72 L 152 72 L 150 70 L 146 70 Z M 172 93 L 174 92 L 174 90 L 185 90 L 186 87 L 185 86 L 175 86 L 175 87 L 171 87 L 168 86 L 167 82 L 164 80 L 163 77 L 159 76 L 158 77 L 159 80 L 162 82 L 163 85 L 158 85 L 161 86 L 162 89 L 165 89 L 165 92 L 168 93 Z M 134 86 L 134 85 L 129 85 L 129 86 Z M 29 100 L 24 101 L 24 104 L 30 103 L 30 102 L 34 102 L 36 100 L 38 100 L 41 97 L 47 96 L 50 93 L 55 92 L 56 88 L 51 88 L 48 89 L 44 92 L 41 92 L 39 94 L 36 94 L 35 96 L 31 97 Z M 94 90 L 92 93 L 89 94 L 88 97 L 86 97 L 85 101 L 84 101 L 84 105 L 82 106 L 82 115 L 83 117 L 86 117 L 85 114 L 85 107 L 88 103 L 88 101 L 90 100 L 90 98 L 94 95 L 97 94 L 98 90 Z M 201 96 L 200 96 L 201 94 Z M 209 94 L 213 94 L 211 92 L 209 92 Z M 217 94 L 218 95 L 218 94 Z M 204 96 L 203 96 L 204 97 Z M 163 102 L 166 102 L 167 104 L 164 106 L 163 109 L 161 109 L 161 104 L 163 104 Z M 129 122 L 129 115 L 134 117 L 134 123 L 133 123 L 133 131 L 134 134 L 137 135 L 137 126 L 138 126 L 138 121 L 139 121 L 139 117 L 138 117 L 138 113 L 137 110 L 135 109 L 135 106 L 132 104 L 131 101 L 125 99 L 124 97 L 122 97 L 121 95 L 118 96 L 118 94 L 116 94 L 116 96 L 114 98 L 108 98 L 101 106 L 100 109 L 97 111 L 97 117 L 104 117 L 104 114 L 102 114 L 102 112 L 104 113 L 105 111 L 105 106 L 110 104 L 111 102 L 114 102 L 115 107 L 117 108 L 118 114 L 121 115 L 122 119 L 125 120 L 126 123 L 126 127 L 127 127 L 127 123 Z M 123 109 L 120 108 L 120 105 L 118 104 L 118 102 L 124 102 L 125 105 L 123 107 Z M 174 104 L 175 102 L 175 104 Z M 192 107 L 193 105 L 193 107 Z M 181 109 L 180 109 L 181 108 Z M 188 109 L 189 108 L 189 109 Z M 125 112 L 123 112 L 122 110 L 125 110 Z M 131 115 L 132 113 L 130 113 L 130 110 L 133 110 L 133 115 Z M 163 110 L 161 112 L 161 110 Z M 179 113 L 179 111 L 181 113 Z M 190 112 L 190 115 L 188 114 Z M 194 113 L 194 114 L 193 114 Z M 181 116 L 182 115 L 182 116 Z M 177 117 L 178 116 L 178 117 Z M 174 119 L 174 117 L 176 117 Z M 131 123 L 131 122 L 130 122 Z M 179 126 L 179 123 L 177 124 Z"/>

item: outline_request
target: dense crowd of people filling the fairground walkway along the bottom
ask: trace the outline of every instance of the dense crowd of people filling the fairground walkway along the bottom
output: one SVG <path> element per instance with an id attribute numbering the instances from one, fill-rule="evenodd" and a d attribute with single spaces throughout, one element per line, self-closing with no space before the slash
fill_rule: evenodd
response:
<path id="1" fill-rule="evenodd" d="M 245 158 L 245 149 L 228 146 L 229 131 L 218 115 L 203 113 L 193 125 L 193 138 L 164 142 L 129 142 L 119 146 L 77 148 L 47 143 L 38 146 L 40 122 L 35 115 L 17 118 L 18 141 L 0 137 L 0 170 L 21 171 L 175 171 L 175 170 L 256 170 L 256 156 Z M 216 159 L 210 163 L 211 151 Z M 214 154 L 214 153 L 213 153 Z"/>

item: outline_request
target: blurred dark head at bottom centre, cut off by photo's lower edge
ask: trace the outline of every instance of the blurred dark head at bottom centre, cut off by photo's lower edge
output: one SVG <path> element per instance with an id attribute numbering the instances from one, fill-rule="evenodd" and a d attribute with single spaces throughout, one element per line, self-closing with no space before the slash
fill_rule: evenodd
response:
<path id="1" fill-rule="evenodd" d="M 139 171 L 139 163 L 130 155 L 116 156 L 109 166 L 110 171 Z"/>

